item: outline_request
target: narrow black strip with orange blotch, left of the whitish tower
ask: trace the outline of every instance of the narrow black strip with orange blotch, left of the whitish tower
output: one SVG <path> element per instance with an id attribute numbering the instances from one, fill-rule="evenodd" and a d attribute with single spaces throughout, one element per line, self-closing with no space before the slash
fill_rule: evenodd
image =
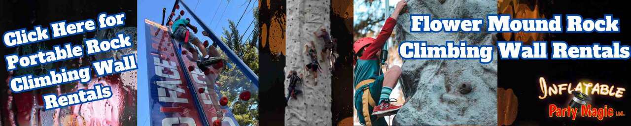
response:
<path id="1" fill-rule="evenodd" d="M 270 3 L 270 4 L 266 4 Z M 268 25 L 266 30 L 261 30 L 262 40 L 266 40 L 267 44 L 263 45 L 259 42 L 259 71 L 264 71 L 259 74 L 259 125 L 282 125 L 285 123 L 285 55 L 274 54 L 270 50 L 270 46 L 274 43 L 280 43 L 278 41 L 285 41 L 285 39 L 278 39 L 269 37 L 271 35 L 271 28 L 269 24 L 272 20 L 282 22 L 280 34 L 282 38 L 285 38 L 285 8 L 286 2 L 282 0 L 261 0 L 259 1 L 259 28 L 263 28 L 263 23 Z M 283 17 L 283 18 L 274 18 Z M 284 45 L 282 46 L 285 47 Z"/>

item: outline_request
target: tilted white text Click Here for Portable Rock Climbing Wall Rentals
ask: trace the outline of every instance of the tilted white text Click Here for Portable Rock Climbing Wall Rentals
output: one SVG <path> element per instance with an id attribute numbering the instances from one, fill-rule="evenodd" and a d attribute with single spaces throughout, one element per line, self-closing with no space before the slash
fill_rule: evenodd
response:
<path id="1" fill-rule="evenodd" d="M 71 35 L 83 35 L 83 33 L 97 30 L 105 30 L 115 26 L 125 25 L 125 13 L 107 14 L 100 13 L 97 20 L 87 19 L 81 21 L 67 22 L 56 21 L 49 24 L 49 28 L 42 25 L 34 26 L 32 29 L 21 28 L 6 31 L 3 34 L 4 46 L 15 48 L 19 46 L 29 46 L 29 44 L 53 40 L 56 38 L 68 37 Z M 83 45 L 73 45 L 64 43 L 54 45 L 52 50 L 39 50 L 33 54 L 9 54 L 4 55 L 6 69 L 14 71 L 28 67 L 40 66 L 70 60 L 86 55 L 95 55 L 111 50 L 126 49 L 133 47 L 130 36 L 124 33 L 117 33 L 109 40 L 97 40 L 89 38 L 83 40 Z M 85 48 L 84 48 L 85 47 Z M 86 50 L 86 51 L 84 51 Z M 91 70 L 94 69 L 98 77 L 117 74 L 125 71 L 137 69 L 136 55 L 123 55 L 119 59 L 98 59 L 91 62 L 91 66 L 83 66 L 76 69 L 60 67 L 47 71 L 44 75 L 25 74 L 11 77 L 9 88 L 13 93 L 33 91 L 35 89 L 47 88 L 67 83 L 89 83 L 91 81 Z M 42 95 L 45 110 L 62 108 L 65 106 L 78 105 L 91 101 L 104 100 L 112 96 L 111 87 L 108 84 L 95 84 L 91 89 L 79 89 L 73 93 L 63 95 L 45 94 Z"/>

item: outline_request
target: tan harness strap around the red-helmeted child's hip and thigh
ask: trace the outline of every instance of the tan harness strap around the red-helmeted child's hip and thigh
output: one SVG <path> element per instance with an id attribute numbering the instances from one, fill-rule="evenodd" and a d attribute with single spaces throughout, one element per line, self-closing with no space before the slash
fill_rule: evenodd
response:
<path id="1" fill-rule="evenodd" d="M 375 79 L 366 79 L 361 81 L 360 83 L 357 84 L 357 86 L 355 86 L 355 91 L 363 91 L 362 94 L 362 115 L 363 115 L 363 120 L 366 122 L 366 125 L 372 125 L 372 122 L 370 121 L 370 111 L 369 111 L 369 106 L 375 106 L 375 100 L 372 98 L 372 95 L 370 95 L 370 84 L 375 82 Z"/>

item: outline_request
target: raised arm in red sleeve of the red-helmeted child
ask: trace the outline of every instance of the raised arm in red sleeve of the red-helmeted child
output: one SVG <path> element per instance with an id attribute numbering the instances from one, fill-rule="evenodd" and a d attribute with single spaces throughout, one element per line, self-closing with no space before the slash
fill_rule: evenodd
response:
<path id="1" fill-rule="evenodd" d="M 377 57 L 375 57 L 377 55 L 377 52 L 379 52 L 379 50 L 384 47 L 384 44 L 386 44 L 386 40 L 390 38 L 392 30 L 394 29 L 394 25 L 396 25 L 396 18 L 398 18 L 401 9 L 403 9 L 403 7 L 405 7 L 407 4 L 408 3 L 406 3 L 405 0 L 401 0 L 399 1 L 399 3 L 396 4 L 394 12 L 392 12 L 390 18 L 386 20 L 386 24 L 384 24 L 384 27 L 381 28 L 377 39 L 375 40 L 375 42 L 371 43 L 363 50 L 363 54 L 360 59 L 377 59 Z"/>

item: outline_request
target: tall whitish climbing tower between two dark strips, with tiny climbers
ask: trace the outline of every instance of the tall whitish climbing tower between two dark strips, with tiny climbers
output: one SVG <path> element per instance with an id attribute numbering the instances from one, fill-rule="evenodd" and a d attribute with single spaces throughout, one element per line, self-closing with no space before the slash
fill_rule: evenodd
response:
<path id="1" fill-rule="evenodd" d="M 296 71 L 303 80 L 297 84 L 297 89 L 303 92 L 288 100 L 285 125 L 331 125 L 331 71 L 326 65 L 331 59 L 321 55 L 324 42 L 314 35 L 314 31 L 322 28 L 331 31 L 331 1 L 292 0 L 286 4 L 285 76 Z M 315 49 L 319 62 L 317 69 L 305 69 L 312 63 L 311 48 Z M 290 79 L 285 79 L 285 88 L 289 85 Z M 288 93 L 285 90 L 285 94 Z"/>

